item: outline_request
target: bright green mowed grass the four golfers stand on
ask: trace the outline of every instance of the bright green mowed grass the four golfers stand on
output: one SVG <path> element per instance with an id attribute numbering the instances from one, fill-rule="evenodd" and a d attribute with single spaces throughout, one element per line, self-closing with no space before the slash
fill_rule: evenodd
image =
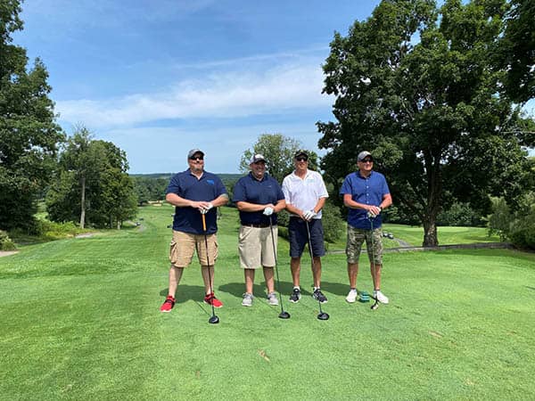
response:
<path id="1" fill-rule="evenodd" d="M 198 264 L 169 314 L 169 206 L 141 227 L 54 241 L 0 258 L 0 399 L 534 399 L 535 255 L 512 250 L 389 253 L 391 305 L 347 304 L 345 258 L 324 258 L 328 321 L 317 320 L 309 258 L 290 304 L 269 307 L 259 272 L 241 306 L 237 214 L 223 209 L 208 323 Z M 366 256 L 358 288 L 371 291 Z"/>

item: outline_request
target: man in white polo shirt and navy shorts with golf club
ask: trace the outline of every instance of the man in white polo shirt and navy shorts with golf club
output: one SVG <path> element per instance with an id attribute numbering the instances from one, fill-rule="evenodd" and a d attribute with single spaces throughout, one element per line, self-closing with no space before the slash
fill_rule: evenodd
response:
<path id="1" fill-rule="evenodd" d="M 323 304 L 327 302 L 327 298 L 320 289 L 321 257 L 325 255 L 321 209 L 323 209 L 329 194 L 322 176 L 317 171 L 309 170 L 307 151 L 297 151 L 293 157 L 293 162 L 295 170 L 289 176 L 285 176 L 283 181 L 286 210 L 291 215 L 288 225 L 293 281 L 290 302 L 296 303 L 300 300 L 300 257 L 310 240 L 314 260 L 312 264 L 314 278 L 312 297 Z"/>

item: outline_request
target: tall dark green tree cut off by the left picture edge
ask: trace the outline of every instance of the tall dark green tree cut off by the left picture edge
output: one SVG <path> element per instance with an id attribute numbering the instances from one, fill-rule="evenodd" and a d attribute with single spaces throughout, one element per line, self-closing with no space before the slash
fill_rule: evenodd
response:
<path id="1" fill-rule="evenodd" d="M 55 124 L 51 87 L 42 61 L 29 63 L 26 50 L 12 45 L 22 29 L 21 2 L 0 4 L 0 228 L 29 229 L 36 200 L 55 166 L 61 128 Z"/>

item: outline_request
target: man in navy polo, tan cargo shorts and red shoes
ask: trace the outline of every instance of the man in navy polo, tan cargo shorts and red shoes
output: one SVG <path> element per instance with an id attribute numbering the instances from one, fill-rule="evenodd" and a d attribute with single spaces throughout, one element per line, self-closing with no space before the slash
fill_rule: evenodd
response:
<path id="1" fill-rule="evenodd" d="M 169 250 L 169 293 L 161 312 L 169 312 L 175 306 L 178 282 L 185 267 L 191 264 L 195 250 L 204 281 L 204 302 L 214 307 L 223 306 L 213 293 L 214 263 L 218 258 L 216 210 L 228 202 L 228 195 L 219 177 L 204 171 L 204 152 L 192 149 L 187 154 L 187 162 L 189 168 L 171 178 L 165 197 L 175 206 L 175 217 Z M 206 232 L 202 226 L 202 215 L 206 218 Z"/>

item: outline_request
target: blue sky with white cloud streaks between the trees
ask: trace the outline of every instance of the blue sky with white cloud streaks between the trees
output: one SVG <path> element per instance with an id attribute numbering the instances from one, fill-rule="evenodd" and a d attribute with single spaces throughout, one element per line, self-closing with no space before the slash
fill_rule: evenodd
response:
<path id="1" fill-rule="evenodd" d="M 378 3 L 27 0 L 14 42 L 45 62 L 65 131 L 115 143 L 131 173 L 181 171 L 196 147 L 208 170 L 235 173 L 264 133 L 317 151 L 333 33 Z"/>

